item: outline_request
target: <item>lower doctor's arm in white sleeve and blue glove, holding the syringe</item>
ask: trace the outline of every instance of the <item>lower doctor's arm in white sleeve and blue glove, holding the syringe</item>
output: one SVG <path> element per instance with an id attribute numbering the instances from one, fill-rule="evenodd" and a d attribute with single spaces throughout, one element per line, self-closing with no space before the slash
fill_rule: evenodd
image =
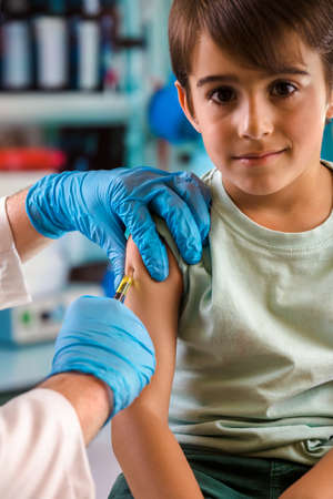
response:
<path id="1" fill-rule="evenodd" d="M 154 366 L 130 309 L 111 298 L 74 301 L 50 377 L 0 408 L 0 497 L 94 497 L 84 444 L 132 403 Z"/>

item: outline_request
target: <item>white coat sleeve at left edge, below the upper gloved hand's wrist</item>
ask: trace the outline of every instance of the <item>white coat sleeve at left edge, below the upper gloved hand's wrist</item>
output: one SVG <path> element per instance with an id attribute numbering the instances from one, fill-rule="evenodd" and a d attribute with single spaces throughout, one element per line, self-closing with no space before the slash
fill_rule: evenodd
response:
<path id="1" fill-rule="evenodd" d="M 6 197 L 0 198 L 0 309 L 31 302 L 22 264 L 6 213 Z"/>

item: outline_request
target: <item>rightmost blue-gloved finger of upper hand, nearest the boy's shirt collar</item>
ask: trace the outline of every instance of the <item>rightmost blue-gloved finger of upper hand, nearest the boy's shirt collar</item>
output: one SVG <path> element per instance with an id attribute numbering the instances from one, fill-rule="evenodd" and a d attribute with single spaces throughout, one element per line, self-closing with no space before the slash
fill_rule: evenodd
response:
<path id="1" fill-rule="evenodd" d="M 204 183 L 193 173 L 181 172 L 173 177 L 174 191 L 189 206 L 201 241 L 204 242 L 209 235 L 211 217 L 211 193 Z"/>

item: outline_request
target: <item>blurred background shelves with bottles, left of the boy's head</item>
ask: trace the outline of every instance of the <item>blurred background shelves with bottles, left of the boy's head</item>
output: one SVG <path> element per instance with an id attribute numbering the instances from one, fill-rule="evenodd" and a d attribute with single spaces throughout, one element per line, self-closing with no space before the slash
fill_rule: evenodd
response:
<path id="1" fill-rule="evenodd" d="M 17 145 L 40 146 L 43 141 L 47 147 L 64 149 L 65 170 L 77 169 L 71 157 L 79 140 L 85 156 L 79 169 L 147 163 L 149 99 L 169 72 L 169 3 L 6 0 L 1 6 L 0 147 L 16 145 L 9 132 L 18 136 L 20 129 L 22 136 L 24 128 L 39 128 L 42 140 L 24 144 L 20 139 Z M 98 162 L 91 159 L 97 142 L 102 143 Z M 114 157 L 110 157 L 112 149 L 118 151 Z"/>

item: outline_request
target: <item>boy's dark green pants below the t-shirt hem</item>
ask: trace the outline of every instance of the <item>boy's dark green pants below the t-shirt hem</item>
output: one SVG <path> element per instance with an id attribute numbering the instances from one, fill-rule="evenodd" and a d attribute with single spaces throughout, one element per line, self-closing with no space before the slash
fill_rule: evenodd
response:
<path id="1" fill-rule="evenodd" d="M 278 499 L 310 469 L 282 459 L 222 455 L 194 446 L 182 448 L 206 499 Z M 109 499 L 132 497 L 124 476 L 120 475 Z"/>

